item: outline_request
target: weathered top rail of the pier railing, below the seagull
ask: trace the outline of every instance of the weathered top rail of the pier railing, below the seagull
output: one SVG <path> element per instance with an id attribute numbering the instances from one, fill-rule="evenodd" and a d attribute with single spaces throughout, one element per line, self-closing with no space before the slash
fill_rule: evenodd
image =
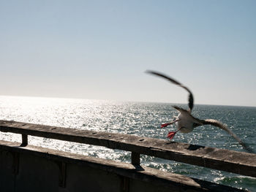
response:
<path id="1" fill-rule="evenodd" d="M 256 177 L 256 154 L 97 131 L 0 120 L 0 131 L 99 145 Z M 136 155 L 134 155 L 136 157 Z M 133 158 L 138 164 L 138 160 Z"/>

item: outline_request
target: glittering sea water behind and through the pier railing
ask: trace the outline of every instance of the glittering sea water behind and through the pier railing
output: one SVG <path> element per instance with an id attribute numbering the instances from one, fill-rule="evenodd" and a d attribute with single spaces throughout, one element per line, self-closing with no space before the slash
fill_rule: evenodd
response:
<path id="1" fill-rule="evenodd" d="M 168 131 L 174 131 L 176 128 L 159 127 L 178 115 L 171 105 L 170 103 L 0 96 L 0 119 L 167 139 Z M 178 106 L 187 107 L 187 104 L 178 104 Z M 192 114 L 197 118 L 213 118 L 222 121 L 246 144 L 256 150 L 256 107 L 195 104 Z M 21 142 L 19 134 L 0 133 L 0 139 Z M 173 141 L 244 151 L 233 137 L 214 126 L 200 126 L 189 134 L 178 132 Z M 31 136 L 29 144 L 130 162 L 130 153 L 122 150 Z M 254 177 L 244 177 L 148 155 L 140 156 L 141 164 L 144 166 L 256 191 Z"/>

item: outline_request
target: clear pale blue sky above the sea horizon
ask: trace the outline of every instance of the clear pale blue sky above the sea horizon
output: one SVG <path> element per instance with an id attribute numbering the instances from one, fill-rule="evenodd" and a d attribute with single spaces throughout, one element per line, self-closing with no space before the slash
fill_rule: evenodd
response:
<path id="1" fill-rule="evenodd" d="M 0 0 L 0 95 L 256 106 L 256 1 Z"/>

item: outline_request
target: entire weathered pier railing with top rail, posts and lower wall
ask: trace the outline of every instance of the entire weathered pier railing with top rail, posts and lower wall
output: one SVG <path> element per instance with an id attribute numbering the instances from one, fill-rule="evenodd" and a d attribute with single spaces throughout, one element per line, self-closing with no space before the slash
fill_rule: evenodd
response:
<path id="1" fill-rule="evenodd" d="M 0 191 L 246 191 L 151 169 L 140 154 L 256 176 L 256 154 L 162 139 L 0 120 L 0 131 L 23 142 L 0 141 Z M 131 152 L 131 164 L 31 146 L 27 136 L 61 139 Z"/>

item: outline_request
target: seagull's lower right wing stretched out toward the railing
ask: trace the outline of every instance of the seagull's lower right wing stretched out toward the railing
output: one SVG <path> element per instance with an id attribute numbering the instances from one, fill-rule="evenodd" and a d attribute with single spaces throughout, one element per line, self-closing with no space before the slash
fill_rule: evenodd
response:
<path id="1" fill-rule="evenodd" d="M 203 125 L 211 125 L 211 126 L 217 126 L 219 128 L 222 128 L 223 130 L 227 131 L 227 133 L 229 133 L 232 137 L 234 137 L 238 141 L 238 143 L 244 147 L 245 150 L 252 153 L 252 149 L 248 145 L 246 145 L 244 142 L 242 142 L 241 139 L 239 139 L 239 137 L 237 137 L 236 134 L 234 134 L 230 130 L 230 128 L 227 128 L 227 126 L 225 126 L 219 120 L 206 119 L 206 120 L 200 120 L 200 122 Z"/>

